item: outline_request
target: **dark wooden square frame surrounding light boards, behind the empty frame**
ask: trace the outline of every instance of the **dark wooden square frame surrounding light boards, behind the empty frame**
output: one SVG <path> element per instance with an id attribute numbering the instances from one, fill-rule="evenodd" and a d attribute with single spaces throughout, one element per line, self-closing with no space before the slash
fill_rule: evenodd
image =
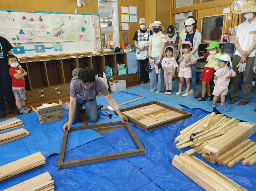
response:
<path id="1" fill-rule="evenodd" d="M 147 106 L 147 105 L 152 105 L 152 104 L 156 104 L 156 105 L 159 105 L 159 106 L 162 106 L 162 107 L 165 107 L 166 109 L 170 109 L 170 110 L 173 110 L 175 112 L 178 112 L 178 113 L 181 113 L 183 114 L 182 116 L 179 116 L 179 117 L 175 117 L 173 119 L 169 119 L 167 121 L 164 121 L 164 122 L 159 122 L 157 124 L 153 124 L 153 125 L 150 125 L 150 126 L 146 126 L 145 124 L 143 123 L 140 123 L 139 121 L 133 119 L 132 117 L 129 117 L 127 115 L 125 115 L 128 120 L 135 124 L 136 126 L 138 126 L 139 128 L 145 130 L 145 131 L 152 131 L 152 130 L 155 130 L 155 129 L 158 129 L 160 127 L 163 127 L 163 126 L 166 126 L 168 124 L 171 124 L 171 123 L 175 123 L 176 121 L 180 121 L 180 120 L 183 120 L 183 119 L 187 119 L 188 117 L 191 117 L 192 116 L 192 113 L 189 113 L 189 112 L 186 112 L 186 111 L 183 111 L 181 109 L 177 109 L 175 107 L 171 107 L 169 105 L 165 105 L 163 103 L 160 103 L 160 102 L 157 102 L 157 101 L 152 101 L 152 102 L 147 102 L 147 103 L 142 103 L 140 105 L 134 105 L 134 106 L 131 106 L 131 107 L 127 107 L 127 108 L 124 108 L 124 109 L 120 109 L 120 112 L 125 112 L 125 111 L 129 111 L 129 110 L 132 110 L 132 109 L 137 109 L 137 108 L 140 108 L 140 107 L 144 107 L 144 106 Z"/>

